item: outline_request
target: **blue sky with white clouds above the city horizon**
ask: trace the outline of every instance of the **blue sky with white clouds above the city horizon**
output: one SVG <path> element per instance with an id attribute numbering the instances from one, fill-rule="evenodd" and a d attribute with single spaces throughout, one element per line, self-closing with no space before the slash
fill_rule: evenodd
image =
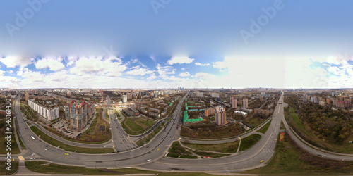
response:
<path id="1" fill-rule="evenodd" d="M 0 87 L 353 87 L 353 1 L 0 1 Z"/>

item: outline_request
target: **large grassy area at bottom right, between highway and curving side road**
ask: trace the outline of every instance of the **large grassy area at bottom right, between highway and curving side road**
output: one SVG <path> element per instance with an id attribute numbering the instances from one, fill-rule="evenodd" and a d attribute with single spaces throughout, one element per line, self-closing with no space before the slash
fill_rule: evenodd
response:
<path id="1" fill-rule="evenodd" d="M 290 139 L 289 135 L 285 134 L 285 138 L 281 142 L 277 141 L 275 155 L 267 165 L 241 173 L 261 175 L 349 175 L 352 170 L 353 162 L 334 161 L 312 155 L 301 149 Z"/>

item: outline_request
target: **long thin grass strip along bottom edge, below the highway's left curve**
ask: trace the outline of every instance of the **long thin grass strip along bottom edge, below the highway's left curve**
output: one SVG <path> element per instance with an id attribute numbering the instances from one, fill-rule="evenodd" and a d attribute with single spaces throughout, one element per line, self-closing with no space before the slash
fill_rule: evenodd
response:
<path id="1" fill-rule="evenodd" d="M 212 176 L 205 173 L 188 173 L 188 172 L 157 172 L 150 170 L 138 170 L 135 168 L 124 169 L 89 169 L 76 166 L 48 164 L 45 161 L 26 161 L 25 166 L 33 172 L 53 173 L 53 174 L 79 174 L 79 175 L 125 175 L 125 174 L 154 174 L 162 176 Z"/>

